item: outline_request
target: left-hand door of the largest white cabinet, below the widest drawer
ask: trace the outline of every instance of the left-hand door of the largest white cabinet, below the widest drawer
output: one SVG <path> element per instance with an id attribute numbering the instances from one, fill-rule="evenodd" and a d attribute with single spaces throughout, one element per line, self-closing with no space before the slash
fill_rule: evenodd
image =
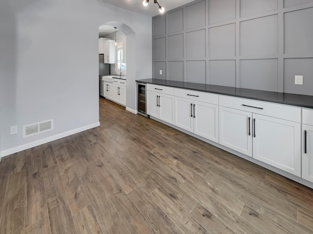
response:
<path id="1" fill-rule="evenodd" d="M 252 113 L 223 106 L 219 113 L 220 144 L 251 157 Z"/>

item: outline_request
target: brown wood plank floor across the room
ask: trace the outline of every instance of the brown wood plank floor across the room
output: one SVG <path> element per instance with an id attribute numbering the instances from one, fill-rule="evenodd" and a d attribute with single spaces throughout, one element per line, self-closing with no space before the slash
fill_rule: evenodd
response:
<path id="1" fill-rule="evenodd" d="M 313 234 L 313 190 L 103 98 L 0 162 L 0 234 Z"/>

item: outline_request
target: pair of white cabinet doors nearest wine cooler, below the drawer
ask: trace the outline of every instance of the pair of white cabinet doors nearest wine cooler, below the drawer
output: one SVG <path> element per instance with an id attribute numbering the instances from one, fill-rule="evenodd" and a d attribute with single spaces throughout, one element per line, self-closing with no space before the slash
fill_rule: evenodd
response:
<path id="1" fill-rule="evenodd" d="M 174 124 L 174 96 L 147 91 L 147 113 Z"/>

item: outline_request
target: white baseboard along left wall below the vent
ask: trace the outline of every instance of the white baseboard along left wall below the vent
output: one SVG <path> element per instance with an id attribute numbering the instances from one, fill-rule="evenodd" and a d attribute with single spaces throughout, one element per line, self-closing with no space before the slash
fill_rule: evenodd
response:
<path id="1" fill-rule="evenodd" d="M 11 154 L 23 151 L 23 150 L 27 150 L 29 148 L 32 148 L 32 147 L 35 147 L 35 146 L 38 146 L 38 145 L 42 145 L 42 144 L 45 144 L 47 142 L 50 142 L 50 141 L 53 141 L 53 140 L 57 140 L 57 139 L 60 139 L 60 138 L 63 138 L 63 137 L 67 137 L 67 136 L 73 135 L 75 133 L 80 133 L 80 132 L 83 132 L 83 131 L 88 130 L 90 128 L 95 128 L 95 127 L 98 127 L 98 126 L 100 126 L 100 122 L 92 123 L 92 124 L 86 125 L 84 127 L 76 128 L 76 129 L 73 129 L 73 130 L 70 130 L 70 131 L 67 131 L 67 132 L 64 132 L 64 133 L 60 133 L 60 134 L 57 134 L 57 135 L 54 135 L 54 136 L 51 136 L 51 137 L 46 137 L 44 139 L 36 140 L 36 141 L 33 141 L 33 142 L 29 142 L 27 144 L 23 144 L 23 145 L 19 145 L 17 147 L 13 147 L 13 148 L 8 149 L 8 150 L 1 151 L 0 152 L 0 160 L 1 160 L 1 157 L 7 156 L 7 155 L 11 155 Z"/>

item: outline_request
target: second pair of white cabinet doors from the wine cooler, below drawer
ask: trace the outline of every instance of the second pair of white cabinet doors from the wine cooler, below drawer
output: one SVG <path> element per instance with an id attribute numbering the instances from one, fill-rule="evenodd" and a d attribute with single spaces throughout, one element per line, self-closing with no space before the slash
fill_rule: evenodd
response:
<path id="1" fill-rule="evenodd" d="M 214 142 L 219 141 L 218 105 L 175 97 L 175 125 Z"/>

